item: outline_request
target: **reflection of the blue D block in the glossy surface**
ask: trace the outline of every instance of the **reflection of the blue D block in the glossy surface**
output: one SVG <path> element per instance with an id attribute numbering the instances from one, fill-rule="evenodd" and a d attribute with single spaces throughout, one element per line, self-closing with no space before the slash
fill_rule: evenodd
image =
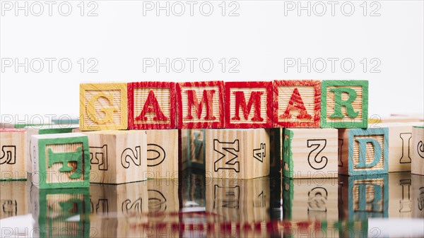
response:
<path id="1" fill-rule="evenodd" d="M 389 214 L 387 174 L 341 177 L 339 220 L 387 218 Z"/>

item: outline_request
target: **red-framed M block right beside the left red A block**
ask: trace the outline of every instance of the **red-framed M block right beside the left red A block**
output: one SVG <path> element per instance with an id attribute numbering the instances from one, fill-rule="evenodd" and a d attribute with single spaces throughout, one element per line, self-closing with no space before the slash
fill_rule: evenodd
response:
<path id="1" fill-rule="evenodd" d="M 224 125 L 224 82 L 177 83 L 178 129 L 220 129 Z"/>

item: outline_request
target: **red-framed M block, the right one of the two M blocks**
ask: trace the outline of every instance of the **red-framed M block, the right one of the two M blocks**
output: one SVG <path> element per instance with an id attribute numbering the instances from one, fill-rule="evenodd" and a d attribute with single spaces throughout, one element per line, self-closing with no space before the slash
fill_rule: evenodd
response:
<path id="1" fill-rule="evenodd" d="M 272 127 L 272 82 L 225 83 L 225 127 Z"/>

